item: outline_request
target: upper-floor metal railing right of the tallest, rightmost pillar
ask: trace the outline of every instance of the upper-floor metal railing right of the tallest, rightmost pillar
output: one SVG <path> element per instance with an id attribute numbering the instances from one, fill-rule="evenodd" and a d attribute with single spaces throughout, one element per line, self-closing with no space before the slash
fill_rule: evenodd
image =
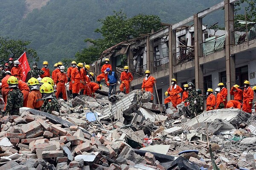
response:
<path id="1" fill-rule="evenodd" d="M 235 40 L 235 46 L 241 43 L 247 42 L 247 40 L 256 39 L 256 23 L 248 24 L 246 27 L 242 27 L 233 31 L 233 37 Z"/>

